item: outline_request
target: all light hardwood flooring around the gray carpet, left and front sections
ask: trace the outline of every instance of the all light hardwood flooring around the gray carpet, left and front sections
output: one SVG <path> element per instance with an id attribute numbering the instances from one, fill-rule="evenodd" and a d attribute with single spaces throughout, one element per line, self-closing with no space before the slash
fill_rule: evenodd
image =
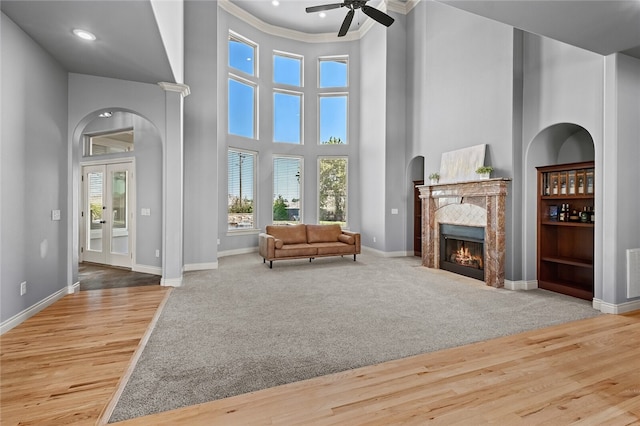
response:
<path id="1" fill-rule="evenodd" d="M 168 292 L 80 292 L 5 333 L 0 423 L 106 422 Z M 639 348 L 640 311 L 602 315 L 117 425 L 640 425 Z"/>

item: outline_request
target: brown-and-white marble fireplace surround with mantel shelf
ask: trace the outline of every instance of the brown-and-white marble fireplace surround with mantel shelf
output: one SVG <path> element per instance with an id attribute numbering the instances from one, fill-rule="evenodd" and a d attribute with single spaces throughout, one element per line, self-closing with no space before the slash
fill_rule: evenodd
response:
<path id="1" fill-rule="evenodd" d="M 504 210 L 510 180 L 496 178 L 420 186 L 422 265 L 440 267 L 441 223 L 484 227 L 485 283 L 504 287 Z"/>

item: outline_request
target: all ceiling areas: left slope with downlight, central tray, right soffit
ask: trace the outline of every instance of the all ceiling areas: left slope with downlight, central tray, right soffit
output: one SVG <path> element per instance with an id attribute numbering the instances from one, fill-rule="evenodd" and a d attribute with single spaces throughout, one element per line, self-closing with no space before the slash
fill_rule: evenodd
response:
<path id="1" fill-rule="evenodd" d="M 346 14 L 345 8 L 329 10 L 325 18 L 304 11 L 336 0 L 279 0 L 278 6 L 272 0 L 218 1 L 273 27 L 332 37 Z M 602 55 L 623 52 L 640 58 L 640 0 L 422 1 L 439 1 Z M 413 0 L 368 3 L 393 10 L 412 4 Z M 70 72 L 147 83 L 175 81 L 149 0 L 2 0 L 0 8 Z M 358 11 L 352 29 L 366 19 L 370 18 Z M 71 30 L 78 27 L 92 31 L 98 40 L 77 39 Z"/>

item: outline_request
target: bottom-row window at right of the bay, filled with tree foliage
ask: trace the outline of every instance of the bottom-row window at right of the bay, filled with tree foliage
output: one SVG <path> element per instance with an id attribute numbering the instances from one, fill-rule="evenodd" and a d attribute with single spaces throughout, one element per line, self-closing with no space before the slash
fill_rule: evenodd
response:
<path id="1" fill-rule="evenodd" d="M 318 171 L 320 223 L 339 223 L 344 227 L 347 224 L 347 158 L 320 158 Z"/>

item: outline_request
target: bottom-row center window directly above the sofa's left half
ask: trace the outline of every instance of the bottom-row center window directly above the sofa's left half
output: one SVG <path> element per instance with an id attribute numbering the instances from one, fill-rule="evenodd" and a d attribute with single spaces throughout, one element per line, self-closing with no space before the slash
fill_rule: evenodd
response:
<path id="1" fill-rule="evenodd" d="M 273 223 L 302 221 L 302 159 L 273 159 Z"/>

